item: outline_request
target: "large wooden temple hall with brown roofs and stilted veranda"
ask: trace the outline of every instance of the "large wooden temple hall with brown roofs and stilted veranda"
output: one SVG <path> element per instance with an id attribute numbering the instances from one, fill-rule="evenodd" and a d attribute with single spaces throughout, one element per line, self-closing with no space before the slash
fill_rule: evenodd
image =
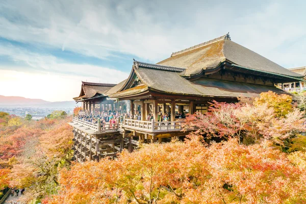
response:
<path id="1" fill-rule="evenodd" d="M 273 91 L 289 94 L 275 85 L 301 82 L 292 72 L 224 35 L 172 53 L 156 64 L 134 60 L 129 78 L 121 83 L 82 82 L 79 97 L 89 112 L 112 110 L 140 113 L 140 120 L 124 118 L 116 124 L 101 124 L 73 118 L 74 159 L 83 162 L 112 156 L 140 144 L 167 142 L 185 136 L 184 115 L 208 111 L 212 100 L 238 101 Z M 168 121 L 159 121 L 159 113 Z M 147 121 L 151 114 L 153 119 Z M 180 115 L 180 117 L 178 117 Z"/>

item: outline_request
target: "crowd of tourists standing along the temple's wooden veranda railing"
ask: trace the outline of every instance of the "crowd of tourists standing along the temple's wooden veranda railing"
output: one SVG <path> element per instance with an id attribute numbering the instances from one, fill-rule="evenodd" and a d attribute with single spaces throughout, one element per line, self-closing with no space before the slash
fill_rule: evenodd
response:
<path id="1" fill-rule="evenodd" d="M 101 124 L 107 123 L 122 123 L 124 119 L 133 119 L 133 120 L 141 120 L 141 112 L 137 111 L 135 114 L 131 112 L 112 112 L 112 111 L 103 111 L 103 112 L 89 112 L 88 110 L 81 110 L 78 114 L 78 119 L 97 123 L 98 119 L 100 119 Z M 170 121 L 171 114 L 170 113 L 162 113 L 159 112 L 157 115 L 157 122 L 168 122 Z M 176 113 L 175 118 L 185 118 L 185 115 L 180 113 Z M 149 113 L 145 118 L 146 121 L 151 121 L 154 119 L 153 114 Z"/>

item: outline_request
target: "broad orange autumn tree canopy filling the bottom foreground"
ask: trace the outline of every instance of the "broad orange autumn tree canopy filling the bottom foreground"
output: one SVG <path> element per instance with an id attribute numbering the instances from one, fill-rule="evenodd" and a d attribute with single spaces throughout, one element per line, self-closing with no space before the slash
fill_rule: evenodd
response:
<path id="1" fill-rule="evenodd" d="M 206 146 L 202 138 L 150 144 L 117 160 L 62 170 L 59 195 L 43 203 L 303 203 L 305 155 L 270 141 L 235 139 Z"/>

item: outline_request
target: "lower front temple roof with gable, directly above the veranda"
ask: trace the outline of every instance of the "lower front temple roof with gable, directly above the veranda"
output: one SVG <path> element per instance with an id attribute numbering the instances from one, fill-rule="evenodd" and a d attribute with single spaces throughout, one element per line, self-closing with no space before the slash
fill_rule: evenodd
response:
<path id="1" fill-rule="evenodd" d="M 261 92 L 267 91 L 288 94 L 274 86 L 228 82 L 209 78 L 199 79 L 194 83 L 183 78 L 180 75 L 182 71 L 175 71 L 177 67 L 172 68 L 174 69 L 169 70 L 168 66 L 160 65 L 157 69 L 149 63 L 135 61 L 129 79 L 125 80 L 121 90 L 114 92 L 110 97 L 138 97 L 148 94 L 150 90 L 166 94 L 230 98 L 258 96 Z M 129 88 L 129 82 L 135 77 L 138 77 L 142 84 Z"/>

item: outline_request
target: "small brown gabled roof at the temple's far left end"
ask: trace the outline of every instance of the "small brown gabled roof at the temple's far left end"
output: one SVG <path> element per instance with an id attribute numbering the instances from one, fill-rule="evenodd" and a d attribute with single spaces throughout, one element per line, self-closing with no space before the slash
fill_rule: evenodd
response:
<path id="1" fill-rule="evenodd" d="M 81 93 L 78 97 L 74 97 L 74 100 L 83 100 L 92 98 L 96 95 L 106 95 L 106 92 L 110 90 L 116 84 L 104 84 L 104 83 L 94 83 L 94 82 L 83 82 Z"/>

